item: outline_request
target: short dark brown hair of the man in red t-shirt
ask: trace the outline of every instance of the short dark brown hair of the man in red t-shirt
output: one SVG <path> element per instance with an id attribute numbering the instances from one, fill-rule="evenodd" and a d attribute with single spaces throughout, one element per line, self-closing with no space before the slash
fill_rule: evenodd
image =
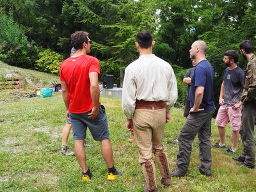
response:
<path id="1" fill-rule="evenodd" d="M 76 50 L 83 49 L 83 43 L 88 42 L 89 33 L 86 31 L 76 31 L 71 35 L 71 44 Z"/>

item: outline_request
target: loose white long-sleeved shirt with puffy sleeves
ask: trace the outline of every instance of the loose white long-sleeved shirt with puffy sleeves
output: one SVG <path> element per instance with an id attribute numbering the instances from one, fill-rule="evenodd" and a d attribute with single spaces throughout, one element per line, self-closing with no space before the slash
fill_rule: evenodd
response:
<path id="1" fill-rule="evenodd" d="M 155 54 L 141 55 L 125 68 L 122 109 L 127 119 L 132 118 L 137 99 L 163 100 L 166 111 L 170 111 L 177 95 L 177 82 L 171 65 Z"/>

